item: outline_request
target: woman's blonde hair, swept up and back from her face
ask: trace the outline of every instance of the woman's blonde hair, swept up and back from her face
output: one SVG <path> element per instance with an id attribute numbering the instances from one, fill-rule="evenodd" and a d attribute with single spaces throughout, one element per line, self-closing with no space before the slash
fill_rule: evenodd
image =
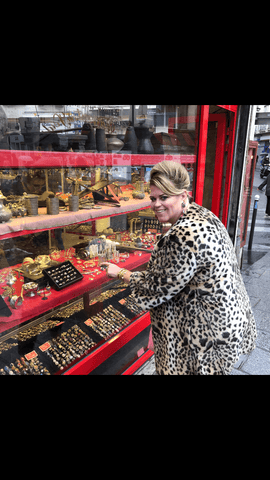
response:
<path id="1" fill-rule="evenodd" d="M 151 170 L 150 185 L 155 185 L 166 195 L 181 195 L 190 186 L 189 174 L 181 163 L 164 160 Z"/>

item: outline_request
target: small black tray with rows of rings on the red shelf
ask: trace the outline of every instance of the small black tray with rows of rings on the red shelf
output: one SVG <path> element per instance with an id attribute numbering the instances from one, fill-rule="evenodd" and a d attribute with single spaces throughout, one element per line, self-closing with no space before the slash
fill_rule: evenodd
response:
<path id="1" fill-rule="evenodd" d="M 55 267 L 48 267 L 42 270 L 45 279 L 48 280 L 51 287 L 60 291 L 83 279 L 83 275 L 68 260 L 59 263 Z"/>

